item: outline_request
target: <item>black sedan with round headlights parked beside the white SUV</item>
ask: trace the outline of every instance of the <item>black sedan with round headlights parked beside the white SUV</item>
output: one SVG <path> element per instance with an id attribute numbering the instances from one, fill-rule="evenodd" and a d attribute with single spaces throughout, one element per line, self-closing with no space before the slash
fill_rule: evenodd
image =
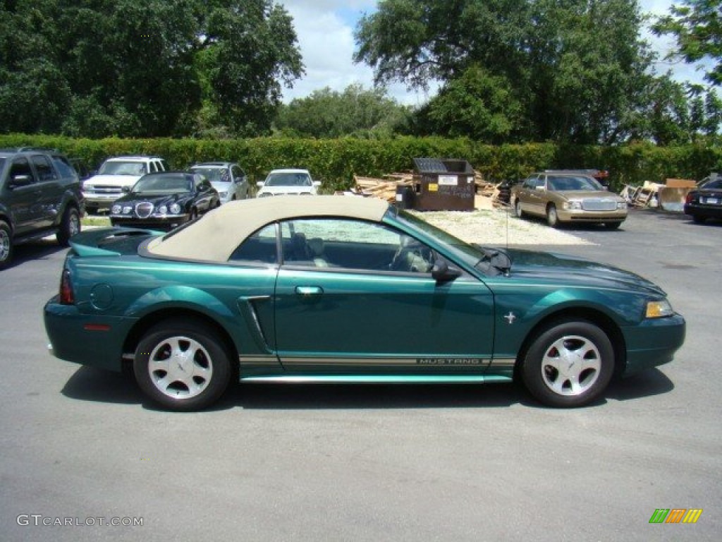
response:
<path id="1" fill-rule="evenodd" d="M 110 223 L 133 228 L 173 229 L 220 205 L 218 192 L 198 173 L 165 171 L 142 176 L 113 202 Z"/>

